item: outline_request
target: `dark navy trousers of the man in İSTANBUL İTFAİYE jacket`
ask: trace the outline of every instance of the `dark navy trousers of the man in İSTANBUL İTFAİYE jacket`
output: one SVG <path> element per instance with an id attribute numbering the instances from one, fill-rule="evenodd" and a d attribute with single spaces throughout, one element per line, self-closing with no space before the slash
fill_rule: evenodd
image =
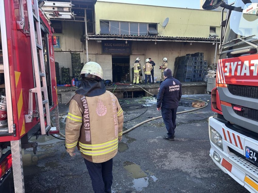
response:
<path id="1" fill-rule="evenodd" d="M 175 119 L 176 119 L 177 108 L 167 109 L 161 106 L 161 115 L 165 123 L 166 129 L 168 131 L 167 135 L 169 137 L 174 137 L 175 135 Z"/>

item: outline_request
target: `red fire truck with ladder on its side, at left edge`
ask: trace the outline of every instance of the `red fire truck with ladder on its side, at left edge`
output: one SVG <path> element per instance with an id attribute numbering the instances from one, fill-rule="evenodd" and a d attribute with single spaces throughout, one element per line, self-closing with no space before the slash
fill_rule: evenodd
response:
<path id="1" fill-rule="evenodd" d="M 25 191 L 21 149 L 36 153 L 32 136 L 59 133 L 53 28 L 43 3 L 0 0 L 0 184 L 12 166 L 15 192 Z"/>

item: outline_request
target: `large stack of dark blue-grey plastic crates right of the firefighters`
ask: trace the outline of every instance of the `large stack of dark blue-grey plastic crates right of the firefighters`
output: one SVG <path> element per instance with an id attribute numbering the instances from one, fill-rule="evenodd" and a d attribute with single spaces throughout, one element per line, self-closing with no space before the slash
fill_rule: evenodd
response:
<path id="1" fill-rule="evenodd" d="M 207 74 L 207 61 L 203 60 L 203 53 L 201 52 L 177 57 L 176 65 L 178 66 L 176 79 L 181 82 L 203 81 Z"/>

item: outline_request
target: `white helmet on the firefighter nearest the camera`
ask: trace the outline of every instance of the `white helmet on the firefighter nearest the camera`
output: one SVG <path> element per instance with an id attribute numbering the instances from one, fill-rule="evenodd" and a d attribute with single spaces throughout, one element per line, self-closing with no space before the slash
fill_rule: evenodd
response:
<path id="1" fill-rule="evenodd" d="M 97 62 L 87 62 L 83 66 L 80 77 L 102 80 L 103 70 Z"/>

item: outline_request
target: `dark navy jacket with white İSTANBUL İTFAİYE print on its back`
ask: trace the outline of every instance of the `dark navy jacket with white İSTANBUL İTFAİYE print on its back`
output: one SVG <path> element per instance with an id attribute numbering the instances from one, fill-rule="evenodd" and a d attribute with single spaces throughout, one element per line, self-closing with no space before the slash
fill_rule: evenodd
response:
<path id="1" fill-rule="evenodd" d="M 157 96 L 157 108 L 175 109 L 182 96 L 182 84 L 174 77 L 167 77 L 161 84 Z"/>

